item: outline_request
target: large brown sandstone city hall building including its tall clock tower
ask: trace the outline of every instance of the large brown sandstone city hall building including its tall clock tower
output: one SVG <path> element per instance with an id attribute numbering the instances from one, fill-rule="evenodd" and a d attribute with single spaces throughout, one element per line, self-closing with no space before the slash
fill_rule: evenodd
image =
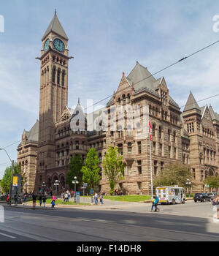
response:
<path id="1" fill-rule="evenodd" d="M 124 179 L 117 189 L 136 194 L 142 189 L 150 193 L 149 139 L 138 138 L 135 129 L 88 131 L 71 129 L 70 121 L 78 110 L 68 107 L 69 50 L 68 37 L 55 15 L 44 36 L 40 60 L 39 120 L 30 131 L 24 130 L 18 146 L 18 164 L 21 165 L 28 192 L 39 191 L 42 184 L 53 189 L 60 181 L 59 192 L 66 189 L 66 173 L 73 154 L 85 159 L 89 148 L 96 148 L 100 159 L 101 192 L 110 187 L 104 176 L 101 162 L 107 147 L 118 146 L 123 154 Z M 147 79 L 145 79 L 147 78 Z M 207 176 L 218 176 L 219 115 L 212 106 L 199 107 L 190 93 L 183 112 L 172 99 L 166 81 L 153 75 L 137 62 L 130 74 L 124 73 L 117 91 L 107 103 L 110 116 L 112 105 L 149 106 L 152 126 L 153 176 L 169 163 L 182 162 L 191 166 L 196 181 L 194 191 L 204 190 Z M 140 108 L 142 109 L 142 108 Z M 126 113 L 124 113 L 126 116 Z M 142 116 L 142 114 L 140 114 Z M 126 118 L 125 118 L 126 120 Z M 84 116 L 86 127 L 86 115 Z"/>

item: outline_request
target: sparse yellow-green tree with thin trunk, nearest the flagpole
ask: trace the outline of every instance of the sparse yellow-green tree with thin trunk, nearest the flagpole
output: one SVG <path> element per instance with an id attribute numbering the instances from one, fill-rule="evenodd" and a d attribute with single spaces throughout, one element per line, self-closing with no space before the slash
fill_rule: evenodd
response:
<path id="1" fill-rule="evenodd" d="M 104 173 L 110 182 L 110 195 L 114 192 L 115 185 L 123 179 L 124 164 L 123 156 L 118 154 L 118 147 L 109 146 L 103 160 Z"/>

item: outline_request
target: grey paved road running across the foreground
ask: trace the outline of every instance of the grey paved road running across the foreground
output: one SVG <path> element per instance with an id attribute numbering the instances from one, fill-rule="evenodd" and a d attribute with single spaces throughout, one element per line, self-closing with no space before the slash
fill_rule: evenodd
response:
<path id="1" fill-rule="evenodd" d="M 127 203 L 114 210 L 5 206 L 0 241 L 219 241 L 219 223 L 214 222 L 210 203 L 160 208 L 161 212 L 150 213 L 146 203 Z"/>

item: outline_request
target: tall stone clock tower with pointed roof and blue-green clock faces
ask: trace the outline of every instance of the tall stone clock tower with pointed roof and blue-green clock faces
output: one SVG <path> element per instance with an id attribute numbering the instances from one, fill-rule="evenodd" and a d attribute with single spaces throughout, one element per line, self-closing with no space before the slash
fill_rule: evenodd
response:
<path id="1" fill-rule="evenodd" d="M 35 188 L 45 181 L 47 170 L 55 167 L 55 123 L 68 104 L 68 37 L 58 20 L 53 20 L 42 37 L 39 86 L 39 144 Z"/>

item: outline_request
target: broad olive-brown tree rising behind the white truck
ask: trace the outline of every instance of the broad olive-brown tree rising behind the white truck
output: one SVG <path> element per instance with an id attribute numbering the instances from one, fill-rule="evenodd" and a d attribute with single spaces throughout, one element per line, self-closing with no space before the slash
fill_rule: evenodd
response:
<path id="1" fill-rule="evenodd" d="M 154 179 L 154 187 L 174 186 L 187 187 L 187 179 L 192 180 L 191 168 L 189 165 L 183 165 L 180 162 L 167 165 L 164 170 Z M 191 183 L 193 185 L 194 182 Z"/>

